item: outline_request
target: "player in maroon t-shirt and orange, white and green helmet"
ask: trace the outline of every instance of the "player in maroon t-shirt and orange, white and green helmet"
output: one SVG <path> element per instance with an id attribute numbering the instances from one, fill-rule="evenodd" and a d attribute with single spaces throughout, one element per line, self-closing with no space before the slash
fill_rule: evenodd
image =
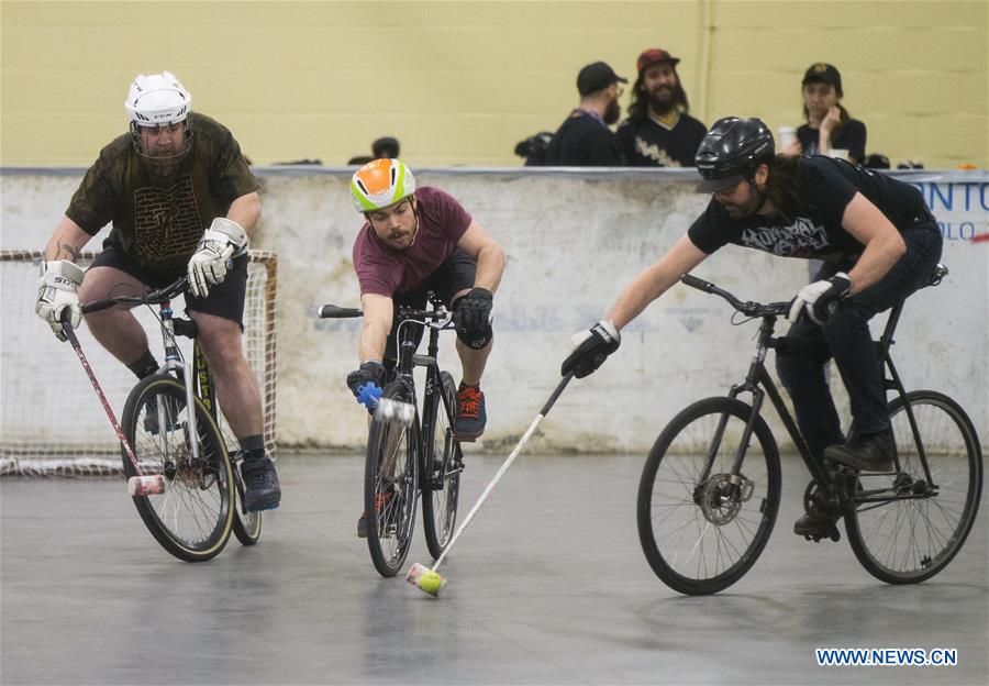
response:
<path id="1" fill-rule="evenodd" d="M 463 380 L 454 430 L 462 441 L 476 440 L 487 422 L 480 380 L 491 352 L 491 307 L 504 254 L 452 196 L 416 188 L 412 172 L 398 159 L 360 167 L 351 193 L 366 222 L 353 253 L 364 309 L 360 367 L 347 376 L 347 386 L 356 396 L 368 381 L 384 385 L 397 357 L 395 308 L 423 308 L 432 290 L 456 313 Z M 363 522 L 362 517 L 358 535 Z"/>

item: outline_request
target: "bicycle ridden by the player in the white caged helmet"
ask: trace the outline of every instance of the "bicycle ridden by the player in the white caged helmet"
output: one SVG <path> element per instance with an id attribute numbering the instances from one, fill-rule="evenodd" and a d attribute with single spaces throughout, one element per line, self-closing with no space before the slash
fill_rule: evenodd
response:
<path id="1" fill-rule="evenodd" d="M 216 401 L 196 322 L 175 317 L 171 309 L 171 299 L 187 283 L 184 276 L 142 296 L 95 300 L 82 305 L 82 312 L 118 305 L 158 306 L 165 363 L 141 379 L 124 403 L 120 424 L 124 475 L 155 540 L 180 560 L 202 562 L 223 550 L 231 532 L 244 545 L 257 543 L 262 514 L 244 507 L 240 444 Z M 176 336 L 192 340 L 192 362 L 184 358 Z M 190 407 L 195 411 L 188 412 Z M 158 475 L 160 479 L 149 478 Z M 144 480 L 135 484 L 133 477 Z"/>

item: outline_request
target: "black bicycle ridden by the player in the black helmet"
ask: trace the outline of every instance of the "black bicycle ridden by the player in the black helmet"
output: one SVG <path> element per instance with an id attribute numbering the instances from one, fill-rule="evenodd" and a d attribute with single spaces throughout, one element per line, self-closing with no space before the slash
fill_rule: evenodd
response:
<path id="1" fill-rule="evenodd" d="M 947 274 L 937 266 L 929 286 Z M 890 311 L 875 342 L 889 402 L 897 457 L 891 472 L 857 472 L 819 464 L 765 367 L 769 348 L 804 350 L 822 343 L 775 336 L 789 302 L 742 302 L 691 275 L 687 286 L 725 299 L 744 321 L 762 319 L 745 380 L 727 397 L 688 406 L 667 424 L 645 463 L 637 496 L 638 536 L 656 575 L 687 595 L 723 590 L 763 552 L 779 509 L 779 451 L 759 414 L 768 396 L 813 480 L 804 508 L 829 524 L 838 519 L 858 562 L 888 584 L 918 584 L 943 569 L 962 549 L 978 511 L 981 447 L 962 407 L 933 390 L 908 392 L 890 357 L 903 303 Z M 734 316 L 733 316 L 734 317 Z M 740 322 L 741 323 L 741 322 Z M 738 398 L 752 395 L 752 402 Z M 823 536 L 812 536 L 820 541 Z"/>

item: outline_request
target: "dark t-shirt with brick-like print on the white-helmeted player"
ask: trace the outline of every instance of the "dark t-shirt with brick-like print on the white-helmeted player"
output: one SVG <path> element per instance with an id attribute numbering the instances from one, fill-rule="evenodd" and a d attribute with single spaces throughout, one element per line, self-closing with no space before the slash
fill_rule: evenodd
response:
<path id="1" fill-rule="evenodd" d="M 108 243 L 152 273 L 182 268 L 202 232 L 258 188 L 231 132 L 192 114 L 192 148 L 167 182 L 151 175 L 124 134 L 100 151 L 66 210 L 90 235 L 113 223 Z"/>

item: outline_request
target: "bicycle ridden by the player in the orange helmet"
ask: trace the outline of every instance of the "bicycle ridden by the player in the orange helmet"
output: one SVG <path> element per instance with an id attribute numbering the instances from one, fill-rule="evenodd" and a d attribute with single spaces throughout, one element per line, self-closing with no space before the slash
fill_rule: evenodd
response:
<path id="1" fill-rule="evenodd" d="M 457 387 L 437 362 L 441 331 L 454 328 L 453 314 L 432 291 L 431 309 L 398 308 L 398 361 L 375 406 L 364 467 L 367 546 L 381 576 L 395 576 L 409 554 L 415 509 L 422 496 L 423 533 L 433 558 L 449 544 L 457 520 L 464 455 L 454 435 Z M 362 317 L 356 309 L 325 305 L 321 319 Z M 429 329 L 425 355 L 416 354 L 415 325 Z M 425 368 L 422 413 L 416 401 L 415 367 Z M 411 408 L 402 419 L 381 408 Z"/>

